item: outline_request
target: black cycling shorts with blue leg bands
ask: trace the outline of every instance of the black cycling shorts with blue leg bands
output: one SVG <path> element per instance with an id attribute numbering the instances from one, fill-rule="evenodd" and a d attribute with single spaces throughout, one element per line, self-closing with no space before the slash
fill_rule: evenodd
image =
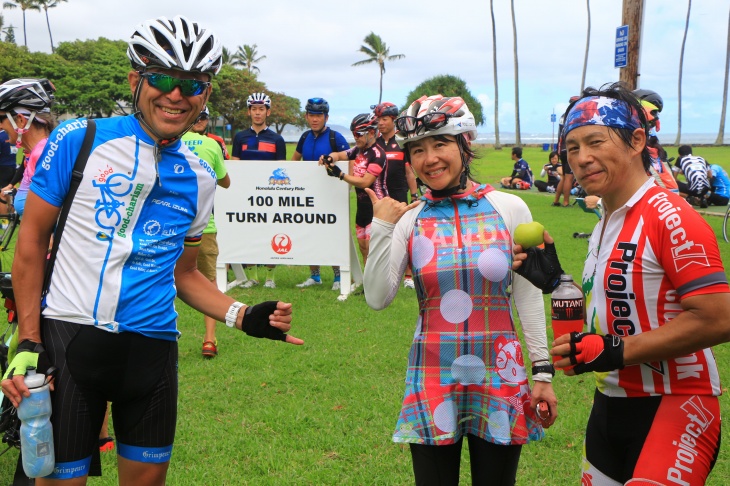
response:
<path id="1" fill-rule="evenodd" d="M 56 470 L 88 474 L 107 402 L 125 459 L 170 460 L 177 420 L 177 342 L 45 319 L 43 344 L 58 367 L 52 392 Z"/>

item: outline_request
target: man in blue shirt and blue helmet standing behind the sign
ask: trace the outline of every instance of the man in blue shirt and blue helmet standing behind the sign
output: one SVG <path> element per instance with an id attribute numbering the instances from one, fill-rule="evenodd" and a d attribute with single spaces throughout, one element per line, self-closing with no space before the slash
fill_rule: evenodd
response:
<path id="1" fill-rule="evenodd" d="M 332 152 L 343 152 L 350 148 L 345 137 L 327 126 L 329 119 L 330 105 L 324 98 L 310 98 L 304 107 L 304 119 L 309 125 L 309 130 L 299 137 L 297 148 L 294 150 L 292 160 L 319 160 L 320 157 L 329 155 Z M 334 282 L 332 290 L 340 290 L 340 267 L 332 267 Z M 319 265 L 309 266 L 309 278 L 297 284 L 297 287 L 311 287 L 322 285 L 322 277 L 319 274 Z"/>

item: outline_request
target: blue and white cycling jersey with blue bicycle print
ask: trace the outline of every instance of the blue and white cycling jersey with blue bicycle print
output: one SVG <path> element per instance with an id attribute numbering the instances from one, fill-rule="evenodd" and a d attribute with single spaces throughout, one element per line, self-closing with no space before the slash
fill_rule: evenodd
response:
<path id="1" fill-rule="evenodd" d="M 154 142 L 131 115 L 96 126 L 43 315 L 175 340 L 175 263 L 208 224 L 215 172 L 180 141 L 155 164 Z M 53 206 L 68 192 L 85 127 L 60 125 L 38 160 L 30 190 Z"/>

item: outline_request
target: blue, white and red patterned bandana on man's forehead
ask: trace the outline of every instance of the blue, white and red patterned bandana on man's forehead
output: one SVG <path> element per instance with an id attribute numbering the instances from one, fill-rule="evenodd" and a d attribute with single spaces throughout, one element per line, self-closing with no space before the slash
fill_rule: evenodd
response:
<path id="1" fill-rule="evenodd" d="M 641 128 L 636 110 L 627 103 L 605 96 L 589 96 L 578 101 L 565 117 L 563 136 L 574 128 L 585 125 L 601 125 L 609 128 Z"/>

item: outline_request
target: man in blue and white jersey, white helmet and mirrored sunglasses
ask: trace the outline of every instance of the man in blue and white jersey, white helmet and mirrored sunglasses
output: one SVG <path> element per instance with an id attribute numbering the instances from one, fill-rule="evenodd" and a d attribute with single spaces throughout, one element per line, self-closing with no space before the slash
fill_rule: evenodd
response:
<path id="1" fill-rule="evenodd" d="M 86 120 L 51 133 L 15 254 L 20 343 L 3 393 L 17 406 L 30 396 L 28 367 L 44 374 L 58 367 L 55 470 L 39 485 L 86 482 L 107 400 L 119 482 L 165 483 L 177 416 L 176 296 L 251 336 L 303 343 L 286 334 L 291 304 L 246 306 L 196 268 L 216 176 L 180 137 L 210 95 L 221 65 L 219 38 L 184 17 L 161 17 L 137 27 L 127 55 L 135 113 L 96 122 L 65 231 L 54 239 L 60 245 L 43 306 L 48 243 L 93 127 Z"/>

